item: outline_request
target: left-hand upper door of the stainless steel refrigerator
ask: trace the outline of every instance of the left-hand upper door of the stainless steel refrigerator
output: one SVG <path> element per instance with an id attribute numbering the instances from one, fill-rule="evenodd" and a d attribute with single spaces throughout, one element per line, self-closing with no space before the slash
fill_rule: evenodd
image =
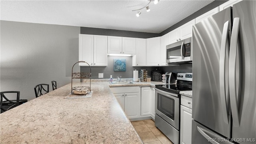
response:
<path id="1" fill-rule="evenodd" d="M 206 127 L 230 138 L 230 105 L 228 94 L 228 50 L 231 35 L 231 8 L 227 8 L 193 26 L 193 98 L 192 118 Z M 225 26 L 224 26 L 225 25 Z M 228 26 L 227 26 L 228 25 Z M 228 28 L 225 30 L 225 28 Z M 226 34 L 222 34 L 224 33 Z M 226 38 L 226 40 L 222 40 Z M 221 44 L 226 42 L 225 44 Z M 224 62 L 220 64 L 221 45 L 226 48 Z M 223 86 L 220 89 L 220 83 Z M 221 91 L 222 90 L 222 95 Z M 224 94 L 224 95 L 223 95 Z"/>

